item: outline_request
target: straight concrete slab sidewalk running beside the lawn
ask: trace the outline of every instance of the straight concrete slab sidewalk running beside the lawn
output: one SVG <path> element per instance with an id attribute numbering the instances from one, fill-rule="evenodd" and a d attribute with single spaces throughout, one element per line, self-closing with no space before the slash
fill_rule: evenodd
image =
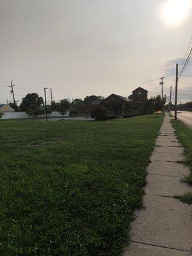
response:
<path id="1" fill-rule="evenodd" d="M 172 197 L 191 191 L 191 186 L 180 182 L 189 173 L 186 166 L 177 163 L 183 160 L 182 152 L 166 115 L 148 165 L 145 209 L 135 212 L 124 256 L 192 255 L 191 206 Z"/>

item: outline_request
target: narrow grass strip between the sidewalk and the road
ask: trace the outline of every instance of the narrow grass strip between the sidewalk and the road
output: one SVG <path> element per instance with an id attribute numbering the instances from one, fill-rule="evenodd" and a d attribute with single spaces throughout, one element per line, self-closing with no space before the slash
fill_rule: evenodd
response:
<path id="1" fill-rule="evenodd" d="M 189 175 L 185 177 L 183 181 L 192 186 L 192 129 L 179 120 L 175 121 L 172 119 L 172 125 L 177 138 L 184 147 L 184 157 L 186 159 L 184 164 L 188 165 L 190 169 Z M 192 204 L 192 193 L 175 195 L 175 198 L 179 198 L 182 202 L 186 202 L 187 204 Z"/>

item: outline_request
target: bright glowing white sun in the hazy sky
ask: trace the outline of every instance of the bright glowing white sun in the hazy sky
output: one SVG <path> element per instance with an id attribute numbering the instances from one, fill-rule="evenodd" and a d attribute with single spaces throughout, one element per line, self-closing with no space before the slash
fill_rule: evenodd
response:
<path id="1" fill-rule="evenodd" d="M 167 0 L 163 7 L 163 19 L 171 25 L 180 24 L 186 19 L 191 7 L 191 0 Z"/>

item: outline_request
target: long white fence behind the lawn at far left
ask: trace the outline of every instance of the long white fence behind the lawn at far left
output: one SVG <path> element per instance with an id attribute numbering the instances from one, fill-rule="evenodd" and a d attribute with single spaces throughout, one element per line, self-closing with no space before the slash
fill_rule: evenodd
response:
<path id="1" fill-rule="evenodd" d="M 48 115 L 49 117 L 62 117 L 62 115 L 57 111 L 52 111 L 51 114 Z M 65 117 L 69 116 L 69 112 L 65 114 Z M 41 115 L 40 117 L 46 117 L 45 114 Z M 29 116 L 25 112 L 4 112 L 4 115 L 1 119 L 19 119 L 19 118 L 35 118 L 35 116 Z M 36 116 L 38 118 L 38 116 Z"/>

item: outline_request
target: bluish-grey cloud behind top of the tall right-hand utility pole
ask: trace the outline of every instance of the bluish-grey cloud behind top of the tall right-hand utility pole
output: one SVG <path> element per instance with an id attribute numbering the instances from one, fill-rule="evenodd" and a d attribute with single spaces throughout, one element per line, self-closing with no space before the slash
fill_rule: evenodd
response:
<path id="1" fill-rule="evenodd" d="M 166 77 L 175 76 L 175 65 L 179 64 L 179 70 L 183 67 L 186 58 L 177 58 L 175 60 L 168 60 L 164 68 L 164 74 Z M 185 68 L 182 77 L 192 77 L 192 61 L 189 60 L 187 67 Z"/>

